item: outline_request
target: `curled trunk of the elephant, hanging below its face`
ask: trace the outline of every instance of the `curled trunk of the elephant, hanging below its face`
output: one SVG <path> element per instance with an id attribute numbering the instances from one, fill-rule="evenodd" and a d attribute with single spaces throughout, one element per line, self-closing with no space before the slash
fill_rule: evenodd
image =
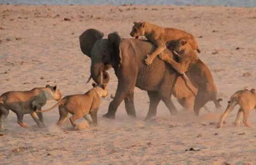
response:
<path id="1" fill-rule="evenodd" d="M 100 83 L 108 83 L 109 82 L 109 74 L 106 71 L 103 71 L 104 66 L 102 64 L 92 64 L 91 66 L 91 76 L 94 82 Z"/>

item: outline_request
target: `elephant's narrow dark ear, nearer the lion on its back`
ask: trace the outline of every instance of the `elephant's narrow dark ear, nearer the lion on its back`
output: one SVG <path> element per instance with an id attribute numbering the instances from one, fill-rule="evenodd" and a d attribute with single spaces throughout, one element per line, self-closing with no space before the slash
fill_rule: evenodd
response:
<path id="1" fill-rule="evenodd" d="M 120 64 L 122 64 L 122 55 L 119 47 L 121 37 L 119 36 L 118 32 L 112 32 L 108 34 L 108 40 L 109 40 L 109 50 L 111 51 L 111 54 L 115 58 L 115 61 L 117 62 L 118 66 L 120 66 Z"/>

